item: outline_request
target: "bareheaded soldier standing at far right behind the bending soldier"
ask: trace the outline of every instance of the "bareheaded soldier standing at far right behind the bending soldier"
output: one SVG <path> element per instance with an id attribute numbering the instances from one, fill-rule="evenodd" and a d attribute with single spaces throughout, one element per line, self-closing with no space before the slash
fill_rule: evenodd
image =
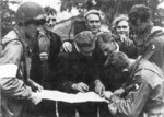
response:
<path id="1" fill-rule="evenodd" d="M 134 43 L 138 52 L 164 71 L 164 31 L 162 27 L 153 26 L 150 19 L 151 13 L 148 7 L 137 4 L 131 8 L 129 22 L 137 35 Z"/>

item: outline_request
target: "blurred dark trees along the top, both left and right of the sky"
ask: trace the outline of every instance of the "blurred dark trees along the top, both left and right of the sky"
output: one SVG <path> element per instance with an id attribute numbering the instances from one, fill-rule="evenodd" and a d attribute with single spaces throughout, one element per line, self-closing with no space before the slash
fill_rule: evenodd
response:
<path id="1" fill-rule="evenodd" d="M 0 0 L 0 38 L 13 27 L 15 11 L 9 4 L 20 3 L 20 0 Z M 164 0 L 61 0 L 61 12 L 77 8 L 80 14 L 91 9 L 102 10 L 106 14 L 106 23 L 109 25 L 115 15 L 128 13 L 133 4 L 143 3 L 151 8 L 152 21 L 155 25 L 162 25 L 162 16 L 157 5 Z"/>

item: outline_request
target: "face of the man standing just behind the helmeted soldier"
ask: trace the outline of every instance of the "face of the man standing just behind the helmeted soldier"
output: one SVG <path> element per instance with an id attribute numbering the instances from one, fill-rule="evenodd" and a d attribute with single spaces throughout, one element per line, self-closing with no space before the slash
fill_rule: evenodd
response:
<path id="1" fill-rule="evenodd" d="M 56 14 L 46 14 L 46 27 L 52 30 L 56 25 Z"/>

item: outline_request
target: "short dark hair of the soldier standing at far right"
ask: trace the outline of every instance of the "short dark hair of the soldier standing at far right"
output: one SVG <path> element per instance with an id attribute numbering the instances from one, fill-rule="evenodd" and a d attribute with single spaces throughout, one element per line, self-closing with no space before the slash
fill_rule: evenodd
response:
<path id="1" fill-rule="evenodd" d="M 144 4 L 136 4 L 131 8 L 129 12 L 130 23 L 134 23 L 138 19 L 140 19 L 141 22 L 148 22 L 150 21 L 150 16 L 151 16 L 150 9 Z"/>

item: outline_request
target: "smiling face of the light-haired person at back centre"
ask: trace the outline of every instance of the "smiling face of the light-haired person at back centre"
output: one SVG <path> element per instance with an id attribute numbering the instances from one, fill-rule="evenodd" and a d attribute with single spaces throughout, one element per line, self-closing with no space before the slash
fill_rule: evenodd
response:
<path id="1" fill-rule="evenodd" d="M 101 19 L 96 14 L 89 14 L 86 25 L 92 33 L 97 33 L 101 28 Z"/>

